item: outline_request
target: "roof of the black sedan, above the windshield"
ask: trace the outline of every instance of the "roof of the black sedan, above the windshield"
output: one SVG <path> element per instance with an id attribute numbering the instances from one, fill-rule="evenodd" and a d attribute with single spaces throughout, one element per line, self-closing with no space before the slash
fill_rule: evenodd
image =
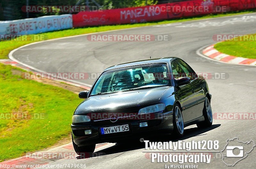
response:
<path id="1" fill-rule="evenodd" d="M 154 59 L 146 59 L 146 60 L 136 60 L 136 61 L 121 63 L 118 65 L 108 67 L 107 69 L 104 70 L 104 72 L 108 70 L 116 69 L 116 68 L 121 68 L 121 67 L 129 67 L 129 66 L 152 64 L 152 63 L 170 63 L 170 61 L 175 58 L 177 57 L 164 57 L 164 58 L 154 58 Z"/>

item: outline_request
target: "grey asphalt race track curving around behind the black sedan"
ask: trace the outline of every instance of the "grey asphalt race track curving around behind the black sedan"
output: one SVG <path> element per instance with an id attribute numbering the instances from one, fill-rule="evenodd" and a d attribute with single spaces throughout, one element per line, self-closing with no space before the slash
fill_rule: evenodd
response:
<path id="1" fill-rule="evenodd" d="M 256 32 L 256 14 L 239 15 L 117 30 L 101 34 L 153 34 L 171 35 L 169 41 L 150 42 L 91 42 L 86 35 L 46 41 L 22 47 L 12 56 L 22 63 L 45 72 L 100 73 L 105 68 L 133 60 L 177 56 L 185 60 L 196 72 L 226 73 L 226 79 L 208 79 L 212 94 L 213 113 L 256 113 L 256 67 L 230 65 L 205 59 L 196 51 L 216 43 L 214 34 L 250 34 Z M 92 84 L 94 80 L 79 80 Z M 74 107 L 75 109 L 75 107 Z M 72 113 L 72 112 L 70 112 Z M 195 125 L 185 130 L 185 141 L 219 140 L 220 150 L 229 138 L 256 141 L 254 120 L 216 120 L 211 128 L 199 130 Z M 255 148 L 256 149 L 256 148 Z M 233 168 L 255 168 L 256 150 Z M 61 159 L 52 164 L 86 164 L 87 168 L 163 168 L 165 163 L 151 163 L 144 144 L 130 142 L 116 144 L 98 152 L 106 155 L 87 159 Z M 217 154 L 217 155 L 216 155 Z M 210 164 L 197 164 L 198 168 L 227 167 L 213 153 Z M 170 163 L 168 163 L 170 164 Z M 178 163 L 177 163 L 178 164 Z M 232 168 L 232 167 L 231 167 Z"/>

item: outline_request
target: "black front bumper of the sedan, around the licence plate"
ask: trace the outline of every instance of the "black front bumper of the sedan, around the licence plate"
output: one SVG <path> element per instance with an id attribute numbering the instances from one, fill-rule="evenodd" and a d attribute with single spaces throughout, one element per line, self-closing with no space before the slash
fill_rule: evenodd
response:
<path id="1" fill-rule="evenodd" d="M 172 124 L 173 112 L 162 113 L 161 117 L 149 120 L 117 120 L 112 123 L 110 120 L 92 121 L 92 123 L 83 125 L 71 125 L 74 143 L 78 146 L 98 144 L 98 143 L 116 143 L 131 138 L 142 138 L 156 136 L 158 134 L 171 134 L 173 130 Z M 147 122 L 147 127 L 140 127 L 139 123 Z M 100 128 L 117 125 L 129 125 L 129 131 L 101 134 Z M 92 134 L 85 135 L 84 130 L 91 130 Z"/>

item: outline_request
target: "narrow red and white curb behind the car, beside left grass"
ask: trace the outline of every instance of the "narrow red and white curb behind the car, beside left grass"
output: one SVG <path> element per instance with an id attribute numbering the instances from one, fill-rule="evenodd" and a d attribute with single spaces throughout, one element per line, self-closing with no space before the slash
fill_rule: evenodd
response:
<path id="1" fill-rule="evenodd" d="M 10 60 L 10 59 L 0 59 L 0 62 L 5 64 L 5 65 L 11 65 L 11 66 L 14 66 L 14 67 L 19 67 L 19 68 L 21 68 L 23 70 L 26 70 L 26 71 L 29 71 L 29 72 L 35 72 L 34 69 L 31 69 L 29 67 L 21 65 L 18 62 Z M 76 87 L 79 87 L 79 88 L 84 88 L 85 90 L 90 90 L 90 87 L 85 86 L 85 85 L 81 85 L 81 84 L 76 83 L 76 82 L 66 81 L 66 80 L 62 80 L 62 79 L 52 79 L 52 80 L 59 81 L 59 82 L 64 82 L 64 83 L 67 83 L 69 85 L 76 86 Z"/>

